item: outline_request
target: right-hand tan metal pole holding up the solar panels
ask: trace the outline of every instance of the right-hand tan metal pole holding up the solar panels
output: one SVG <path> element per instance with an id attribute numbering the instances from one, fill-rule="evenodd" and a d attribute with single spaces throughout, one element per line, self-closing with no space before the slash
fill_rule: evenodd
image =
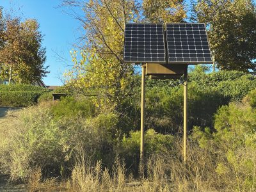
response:
<path id="1" fill-rule="evenodd" d="M 184 129 L 183 129 L 183 160 L 187 161 L 187 133 L 188 131 L 188 66 L 184 73 Z"/>

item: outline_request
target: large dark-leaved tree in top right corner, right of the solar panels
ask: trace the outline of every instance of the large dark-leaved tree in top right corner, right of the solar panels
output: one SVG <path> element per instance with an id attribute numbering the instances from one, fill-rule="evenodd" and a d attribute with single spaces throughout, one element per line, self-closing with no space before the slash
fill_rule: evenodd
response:
<path id="1" fill-rule="evenodd" d="M 256 72 L 256 8 L 249 0 L 193 1 L 193 18 L 207 23 L 220 69 Z"/>

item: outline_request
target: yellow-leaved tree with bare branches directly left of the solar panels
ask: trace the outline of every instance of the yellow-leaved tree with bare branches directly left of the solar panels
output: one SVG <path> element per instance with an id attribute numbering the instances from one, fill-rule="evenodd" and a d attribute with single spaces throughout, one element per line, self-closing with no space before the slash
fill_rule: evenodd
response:
<path id="1" fill-rule="evenodd" d="M 76 2 L 74 4 L 74 2 Z M 138 7 L 133 0 L 63 1 L 63 5 L 81 6 L 83 17 L 82 45 L 72 52 L 74 67 L 66 75 L 70 84 L 86 93 L 99 95 L 95 102 L 102 108 L 118 108 L 129 93 L 132 65 L 123 62 L 124 27 L 138 20 Z"/>

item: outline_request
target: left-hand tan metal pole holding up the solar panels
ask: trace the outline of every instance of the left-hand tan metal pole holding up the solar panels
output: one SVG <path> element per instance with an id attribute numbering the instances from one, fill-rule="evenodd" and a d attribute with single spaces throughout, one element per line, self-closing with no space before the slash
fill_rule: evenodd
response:
<path id="1" fill-rule="evenodd" d="M 145 65 L 141 67 L 140 175 L 144 175 Z"/>

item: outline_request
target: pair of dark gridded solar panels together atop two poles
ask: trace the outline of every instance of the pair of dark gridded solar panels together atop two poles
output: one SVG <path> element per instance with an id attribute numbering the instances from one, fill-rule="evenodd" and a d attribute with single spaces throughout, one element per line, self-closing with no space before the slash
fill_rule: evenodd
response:
<path id="1" fill-rule="evenodd" d="M 124 61 L 212 63 L 205 24 L 126 24 Z"/>

